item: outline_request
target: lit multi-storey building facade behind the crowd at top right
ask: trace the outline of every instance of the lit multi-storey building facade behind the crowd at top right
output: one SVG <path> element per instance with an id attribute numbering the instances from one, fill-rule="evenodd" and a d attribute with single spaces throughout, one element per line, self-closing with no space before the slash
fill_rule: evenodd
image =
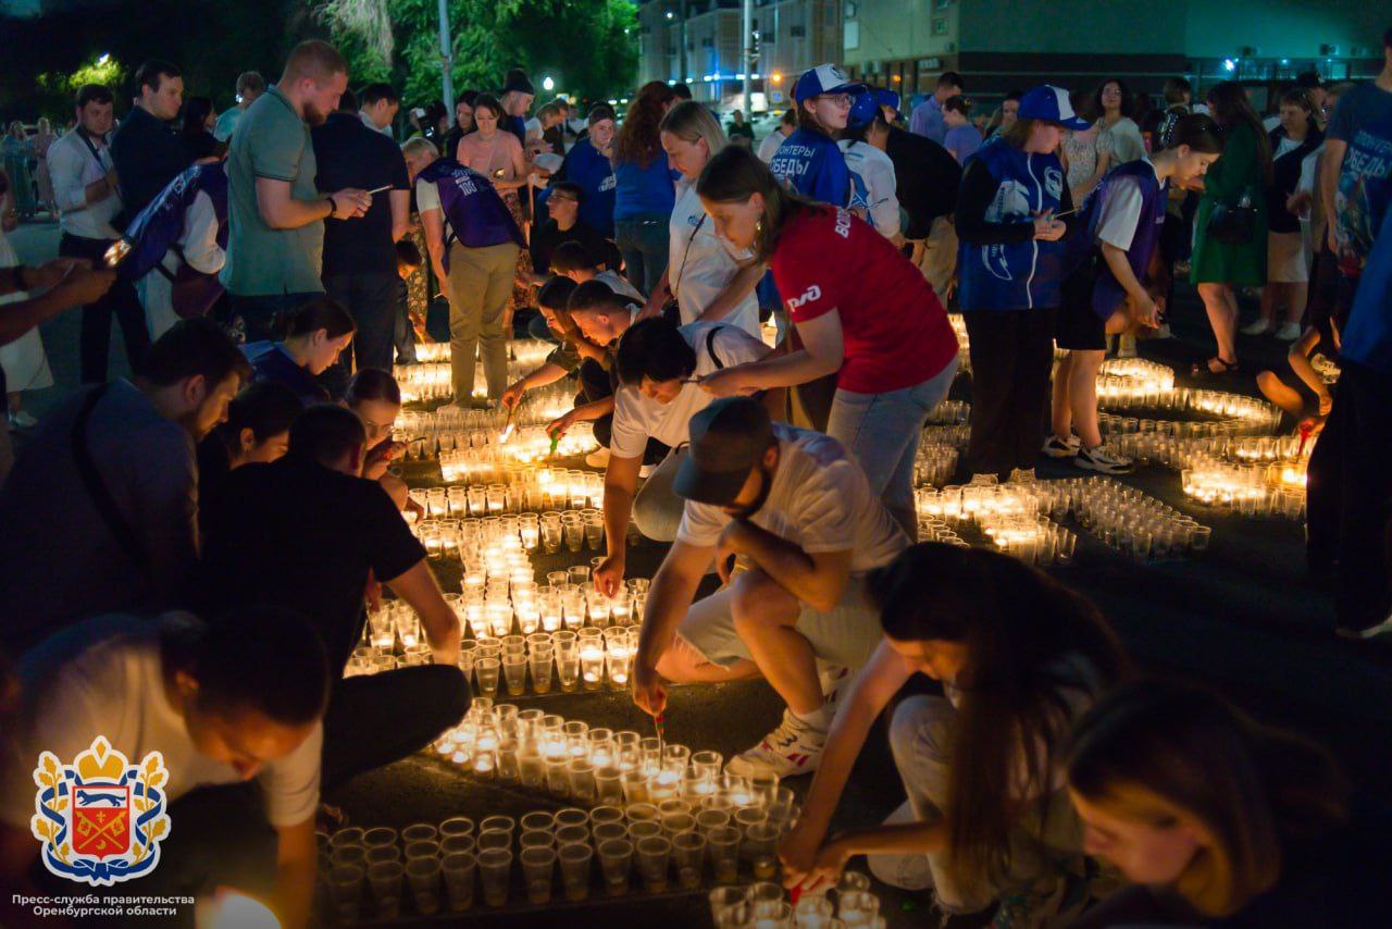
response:
<path id="1" fill-rule="evenodd" d="M 1356 79 L 1382 67 L 1386 11 L 1364 0 L 754 0 L 753 89 L 788 104 L 806 68 L 837 61 L 906 97 L 960 71 L 994 104 L 1041 81 L 1091 88 L 1107 77 L 1158 93 L 1185 75 L 1268 92 L 1302 71 Z M 640 79 L 686 82 L 697 100 L 741 92 L 739 0 L 640 0 Z M 756 107 L 759 109 L 759 107 Z"/>

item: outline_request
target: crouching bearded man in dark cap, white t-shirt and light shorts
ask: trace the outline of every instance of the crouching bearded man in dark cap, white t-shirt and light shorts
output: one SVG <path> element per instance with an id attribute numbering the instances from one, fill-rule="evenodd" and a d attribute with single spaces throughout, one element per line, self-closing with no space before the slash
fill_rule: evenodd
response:
<path id="1" fill-rule="evenodd" d="M 837 440 L 774 423 L 750 397 L 717 400 L 692 416 L 672 489 L 685 513 L 649 591 L 633 702 L 658 716 L 664 678 L 763 676 L 788 709 L 728 769 L 809 774 L 837 689 L 881 639 L 864 577 L 909 540 Z M 724 585 L 692 603 L 713 561 Z M 818 680 L 818 663 L 832 680 Z"/>

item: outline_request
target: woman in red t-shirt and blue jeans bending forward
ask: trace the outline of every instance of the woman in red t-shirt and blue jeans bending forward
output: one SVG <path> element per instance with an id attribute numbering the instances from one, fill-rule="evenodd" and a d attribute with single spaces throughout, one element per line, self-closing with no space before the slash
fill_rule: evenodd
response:
<path id="1" fill-rule="evenodd" d="M 928 412 L 948 394 L 958 343 L 923 274 L 848 210 L 778 184 L 752 152 L 728 148 L 696 184 L 734 253 L 768 262 L 803 347 L 707 375 L 717 397 L 837 373 L 827 435 L 913 538 L 913 458 Z"/>

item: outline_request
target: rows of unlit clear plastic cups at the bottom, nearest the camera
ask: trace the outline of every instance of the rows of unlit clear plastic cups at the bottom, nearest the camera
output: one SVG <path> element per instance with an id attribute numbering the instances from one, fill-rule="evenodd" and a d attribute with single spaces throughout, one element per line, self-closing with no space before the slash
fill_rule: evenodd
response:
<path id="1" fill-rule="evenodd" d="M 477 825 L 455 816 L 438 826 L 416 823 L 400 834 L 380 826 L 320 833 L 329 904 L 337 922 L 358 922 L 366 886 L 377 919 L 400 918 L 408 890 L 416 915 L 459 914 L 475 905 L 482 886 L 483 903 L 503 907 L 516 871 L 532 905 L 551 903 L 557 872 L 564 898 L 582 903 L 593 889 L 599 859 L 608 897 L 626 896 L 635 886 L 665 893 L 714 882 L 725 891 L 711 896 L 721 901 L 713 903 L 717 918 L 736 915 L 736 908 L 750 915 L 777 912 L 764 905 L 771 903 L 768 891 L 750 894 L 750 887 L 734 884 L 743 873 L 764 882 L 777 873 L 778 844 L 792 820 L 773 819 L 770 811 L 756 808 L 732 815 L 679 802 L 664 806 L 665 812 L 650 804 L 539 809 L 516 819 L 489 816 Z"/>

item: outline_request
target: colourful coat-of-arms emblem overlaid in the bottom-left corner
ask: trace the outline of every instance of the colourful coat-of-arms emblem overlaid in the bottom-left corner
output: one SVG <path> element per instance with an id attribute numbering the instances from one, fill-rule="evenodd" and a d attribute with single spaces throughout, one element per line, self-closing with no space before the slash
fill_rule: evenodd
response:
<path id="1" fill-rule="evenodd" d="M 104 735 L 71 765 L 40 754 L 29 830 L 43 845 L 43 866 L 93 887 L 153 872 L 160 840 L 170 832 L 163 790 L 168 777 L 159 752 L 132 765 Z"/>

